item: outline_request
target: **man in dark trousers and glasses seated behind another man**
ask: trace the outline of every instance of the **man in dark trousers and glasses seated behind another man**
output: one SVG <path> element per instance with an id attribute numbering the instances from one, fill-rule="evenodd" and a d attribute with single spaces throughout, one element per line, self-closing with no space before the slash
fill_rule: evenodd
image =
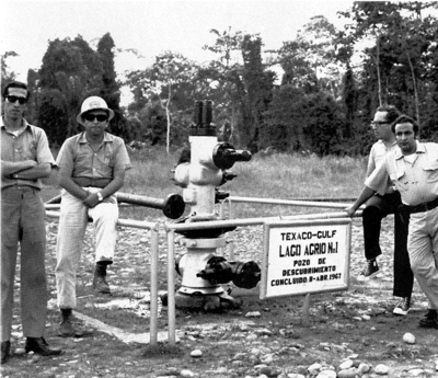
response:
<path id="1" fill-rule="evenodd" d="M 397 148 L 391 124 L 400 112 L 392 105 L 378 107 L 371 127 L 378 138 L 372 145 L 367 169 L 367 177 L 383 161 L 385 154 Z M 394 286 L 393 295 L 400 297 L 393 313 L 405 316 L 411 309 L 411 295 L 414 285 L 414 274 L 411 270 L 406 249 L 408 218 L 402 219 L 399 207 L 402 205 L 400 193 L 392 186 L 387 193 L 376 193 L 366 203 L 362 213 L 364 244 L 367 264 L 359 274 L 359 280 L 367 280 L 379 273 L 377 257 L 382 253 L 379 238 L 381 220 L 389 214 L 394 214 Z"/>

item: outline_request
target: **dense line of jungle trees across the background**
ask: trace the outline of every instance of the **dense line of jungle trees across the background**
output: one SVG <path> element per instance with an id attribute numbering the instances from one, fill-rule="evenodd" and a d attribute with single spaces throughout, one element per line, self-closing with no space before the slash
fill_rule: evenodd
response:
<path id="1" fill-rule="evenodd" d="M 393 104 L 419 122 L 422 138 L 435 140 L 437 11 L 436 2 L 358 1 L 339 12 L 343 30 L 315 16 L 270 51 L 260 35 L 211 30 L 216 43 L 205 46 L 216 56 L 210 62 L 165 51 L 123 82 L 110 33 L 96 49 L 80 35 L 50 41 L 41 69 L 28 71 L 28 117 L 59 146 L 78 131 L 82 100 L 97 94 L 116 113 L 112 133 L 169 152 L 187 140 L 194 101 L 209 99 L 219 137 L 239 148 L 353 156 L 369 151 L 376 108 Z M 14 54 L 1 57 L 3 82 L 13 77 L 5 62 Z M 119 105 L 122 85 L 134 94 L 127 108 Z"/>

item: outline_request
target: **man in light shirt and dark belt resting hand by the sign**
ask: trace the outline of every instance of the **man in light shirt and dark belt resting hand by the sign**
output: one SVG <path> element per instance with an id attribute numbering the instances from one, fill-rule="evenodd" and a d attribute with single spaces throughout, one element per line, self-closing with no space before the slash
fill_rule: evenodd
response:
<path id="1" fill-rule="evenodd" d="M 389 152 L 366 180 L 356 202 L 346 209 L 353 216 L 376 192 L 385 193 L 389 181 L 400 192 L 410 214 L 407 251 L 415 278 L 428 298 L 429 309 L 419 321 L 438 329 L 438 145 L 416 140 L 418 124 L 402 115 L 392 124 L 400 150 Z"/>

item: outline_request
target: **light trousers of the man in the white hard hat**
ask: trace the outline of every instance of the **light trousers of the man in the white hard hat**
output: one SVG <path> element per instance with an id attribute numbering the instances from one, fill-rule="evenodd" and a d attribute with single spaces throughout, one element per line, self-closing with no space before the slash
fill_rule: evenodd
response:
<path id="1" fill-rule="evenodd" d="M 101 188 L 87 187 L 87 190 L 99 192 Z M 56 288 L 60 309 L 73 309 L 77 306 L 76 276 L 89 217 L 93 221 L 95 231 L 95 262 L 113 262 L 118 219 L 116 196 L 107 197 L 93 208 L 89 208 L 81 199 L 62 190 L 56 244 Z"/>

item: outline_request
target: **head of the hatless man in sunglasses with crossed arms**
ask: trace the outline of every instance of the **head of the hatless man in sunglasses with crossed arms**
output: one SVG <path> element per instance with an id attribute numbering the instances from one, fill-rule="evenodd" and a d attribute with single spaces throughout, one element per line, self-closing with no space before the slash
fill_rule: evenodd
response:
<path id="1" fill-rule="evenodd" d="M 9 119 L 20 119 L 23 117 L 28 100 L 27 85 L 21 81 L 11 81 L 2 93 L 4 116 Z"/>

